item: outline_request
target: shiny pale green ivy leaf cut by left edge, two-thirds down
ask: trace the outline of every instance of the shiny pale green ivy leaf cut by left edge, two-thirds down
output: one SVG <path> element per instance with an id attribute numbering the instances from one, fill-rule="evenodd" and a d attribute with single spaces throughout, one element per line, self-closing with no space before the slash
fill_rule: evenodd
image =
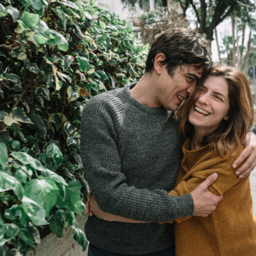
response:
<path id="1" fill-rule="evenodd" d="M 18 199 L 21 199 L 24 194 L 21 183 L 14 176 L 0 171 L 0 192 L 7 190 L 13 190 Z"/>

